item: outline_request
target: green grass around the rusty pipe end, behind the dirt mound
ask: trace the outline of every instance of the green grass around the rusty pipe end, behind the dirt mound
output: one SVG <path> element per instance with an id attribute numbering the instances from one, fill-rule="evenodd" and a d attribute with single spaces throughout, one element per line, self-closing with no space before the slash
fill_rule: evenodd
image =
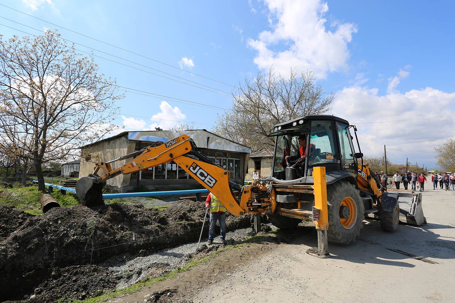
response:
<path id="1" fill-rule="evenodd" d="M 29 214 L 40 215 L 41 211 L 40 197 L 43 193 L 38 190 L 37 186 L 0 189 L 0 205 L 15 206 Z M 79 204 L 76 194 L 66 192 L 66 195 L 60 194 L 58 189 L 51 193 L 61 207 L 70 207 Z"/>

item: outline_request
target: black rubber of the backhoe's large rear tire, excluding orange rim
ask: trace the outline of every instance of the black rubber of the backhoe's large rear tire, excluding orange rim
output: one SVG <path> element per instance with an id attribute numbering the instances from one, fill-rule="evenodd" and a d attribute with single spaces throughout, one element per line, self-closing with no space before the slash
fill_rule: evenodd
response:
<path id="1" fill-rule="evenodd" d="M 357 206 L 357 219 L 350 229 L 344 228 L 339 218 L 339 206 L 345 197 L 351 197 Z M 353 184 L 347 181 L 338 181 L 327 186 L 327 206 L 329 214 L 329 230 L 327 238 L 329 242 L 336 244 L 349 244 L 354 242 L 360 235 L 364 219 L 364 203 L 360 192 Z"/>

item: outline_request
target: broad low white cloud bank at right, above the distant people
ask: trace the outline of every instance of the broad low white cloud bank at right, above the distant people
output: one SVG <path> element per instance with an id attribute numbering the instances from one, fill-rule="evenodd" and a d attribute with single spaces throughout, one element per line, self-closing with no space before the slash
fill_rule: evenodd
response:
<path id="1" fill-rule="evenodd" d="M 382 156 L 385 144 L 394 163 L 404 164 L 408 157 L 412 163 L 418 161 L 420 165 L 425 163 L 428 167 L 435 167 L 433 147 L 455 137 L 455 129 L 448 127 L 455 125 L 455 117 L 425 118 L 454 115 L 453 104 L 455 93 L 430 87 L 412 89 L 404 94 L 378 95 L 378 89 L 353 86 L 335 94 L 331 114 L 356 124 L 359 142 L 368 146 L 361 146 L 364 154 Z M 414 120 L 405 121 L 408 119 Z M 365 123 L 374 121 L 393 122 Z"/>

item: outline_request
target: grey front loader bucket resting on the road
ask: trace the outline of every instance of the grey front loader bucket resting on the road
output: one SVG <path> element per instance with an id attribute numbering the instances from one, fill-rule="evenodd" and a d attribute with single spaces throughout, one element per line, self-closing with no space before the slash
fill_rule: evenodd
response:
<path id="1" fill-rule="evenodd" d="M 422 209 L 421 193 L 397 193 L 399 203 L 399 220 L 413 225 L 427 224 Z"/>

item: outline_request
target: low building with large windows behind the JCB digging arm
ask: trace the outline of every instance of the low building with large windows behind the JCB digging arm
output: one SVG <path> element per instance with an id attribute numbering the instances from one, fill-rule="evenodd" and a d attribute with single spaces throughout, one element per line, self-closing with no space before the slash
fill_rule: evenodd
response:
<path id="1" fill-rule="evenodd" d="M 126 131 L 95 144 L 82 146 L 80 176 L 92 173 L 94 163 L 116 159 L 146 146 L 157 146 L 161 144 L 159 141 L 167 142 L 182 134 L 189 135 L 202 154 L 227 169 L 233 182 L 243 184 L 250 148 L 222 138 L 205 129 Z M 119 167 L 130 160 L 114 162 L 112 168 Z M 139 173 L 116 176 L 107 180 L 107 185 L 121 192 L 145 189 L 153 191 L 202 188 L 196 180 L 192 179 L 173 161 L 158 165 L 155 168 L 142 170 Z"/>

